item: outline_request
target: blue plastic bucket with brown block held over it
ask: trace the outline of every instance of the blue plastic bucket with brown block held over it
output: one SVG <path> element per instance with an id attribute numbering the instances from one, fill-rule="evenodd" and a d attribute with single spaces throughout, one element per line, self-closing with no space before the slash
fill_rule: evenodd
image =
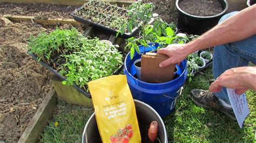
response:
<path id="1" fill-rule="evenodd" d="M 145 52 L 152 51 L 158 46 L 158 43 L 150 43 Z M 143 52 L 144 46 L 140 45 L 139 49 Z M 149 104 L 161 117 L 165 117 L 174 110 L 181 87 L 186 81 L 187 62 L 183 60 L 180 63 L 180 72 L 177 73 L 178 77 L 174 78 L 174 80 L 165 83 L 147 83 L 134 77 L 136 76 L 136 69 L 133 62 L 140 58 L 141 55 L 135 52 L 131 60 L 130 53 L 128 53 L 124 61 L 124 74 L 127 77 L 133 99 Z"/>

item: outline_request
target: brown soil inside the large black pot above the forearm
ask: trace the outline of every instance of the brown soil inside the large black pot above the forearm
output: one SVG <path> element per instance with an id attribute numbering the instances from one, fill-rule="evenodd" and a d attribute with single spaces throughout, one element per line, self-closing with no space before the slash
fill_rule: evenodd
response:
<path id="1" fill-rule="evenodd" d="M 223 11 L 221 4 L 216 0 L 183 0 L 180 8 L 194 16 L 214 16 Z"/>

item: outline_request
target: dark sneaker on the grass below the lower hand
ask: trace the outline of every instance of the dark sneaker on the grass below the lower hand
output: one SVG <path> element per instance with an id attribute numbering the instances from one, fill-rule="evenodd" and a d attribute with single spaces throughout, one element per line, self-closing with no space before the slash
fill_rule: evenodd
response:
<path id="1" fill-rule="evenodd" d="M 221 104 L 221 102 L 219 101 L 219 98 L 216 97 L 212 92 L 209 92 L 208 90 L 193 89 L 190 92 L 190 98 L 198 106 L 218 110 L 220 112 L 225 113 L 225 115 L 227 115 L 231 119 L 237 120 L 237 118 L 235 118 L 233 109 L 223 106 L 223 104 Z"/>

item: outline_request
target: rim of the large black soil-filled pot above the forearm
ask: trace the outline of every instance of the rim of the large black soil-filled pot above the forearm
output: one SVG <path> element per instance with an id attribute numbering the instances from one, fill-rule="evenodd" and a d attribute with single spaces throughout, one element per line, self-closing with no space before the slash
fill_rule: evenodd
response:
<path id="1" fill-rule="evenodd" d="M 176 1 L 176 8 L 177 8 L 180 12 L 184 13 L 185 15 L 191 16 L 191 17 L 194 17 L 194 18 L 200 18 L 200 19 L 204 19 L 204 18 L 215 18 L 215 17 L 218 17 L 218 16 L 223 15 L 223 14 L 227 11 L 227 9 L 228 9 L 228 3 L 227 3 L 227 1 L 226 1 L 226 0 L 223 0 L 223 1 L 225 2 L 225 9 L 224 9 L 222 12 L 220 12 L 218 15 L 214 15 L 214 16 L 195 16 L 195 15 L 191 15 L 190 13 L 187 13 L 187 12 L 181 10 L 181 8 L 179 7 L 179 2 L 180 2 L 179 0 Z"/>

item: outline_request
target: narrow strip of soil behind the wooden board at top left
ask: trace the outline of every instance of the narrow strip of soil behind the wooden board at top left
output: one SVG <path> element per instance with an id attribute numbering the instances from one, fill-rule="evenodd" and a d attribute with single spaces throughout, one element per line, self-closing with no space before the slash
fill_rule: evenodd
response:
<path id="1" fill-rule="evenodd" d="M 0 3 L 0 15 L 36 16 L 49 18 L 71 18 L 70 13 L 80 5 Z"/>

